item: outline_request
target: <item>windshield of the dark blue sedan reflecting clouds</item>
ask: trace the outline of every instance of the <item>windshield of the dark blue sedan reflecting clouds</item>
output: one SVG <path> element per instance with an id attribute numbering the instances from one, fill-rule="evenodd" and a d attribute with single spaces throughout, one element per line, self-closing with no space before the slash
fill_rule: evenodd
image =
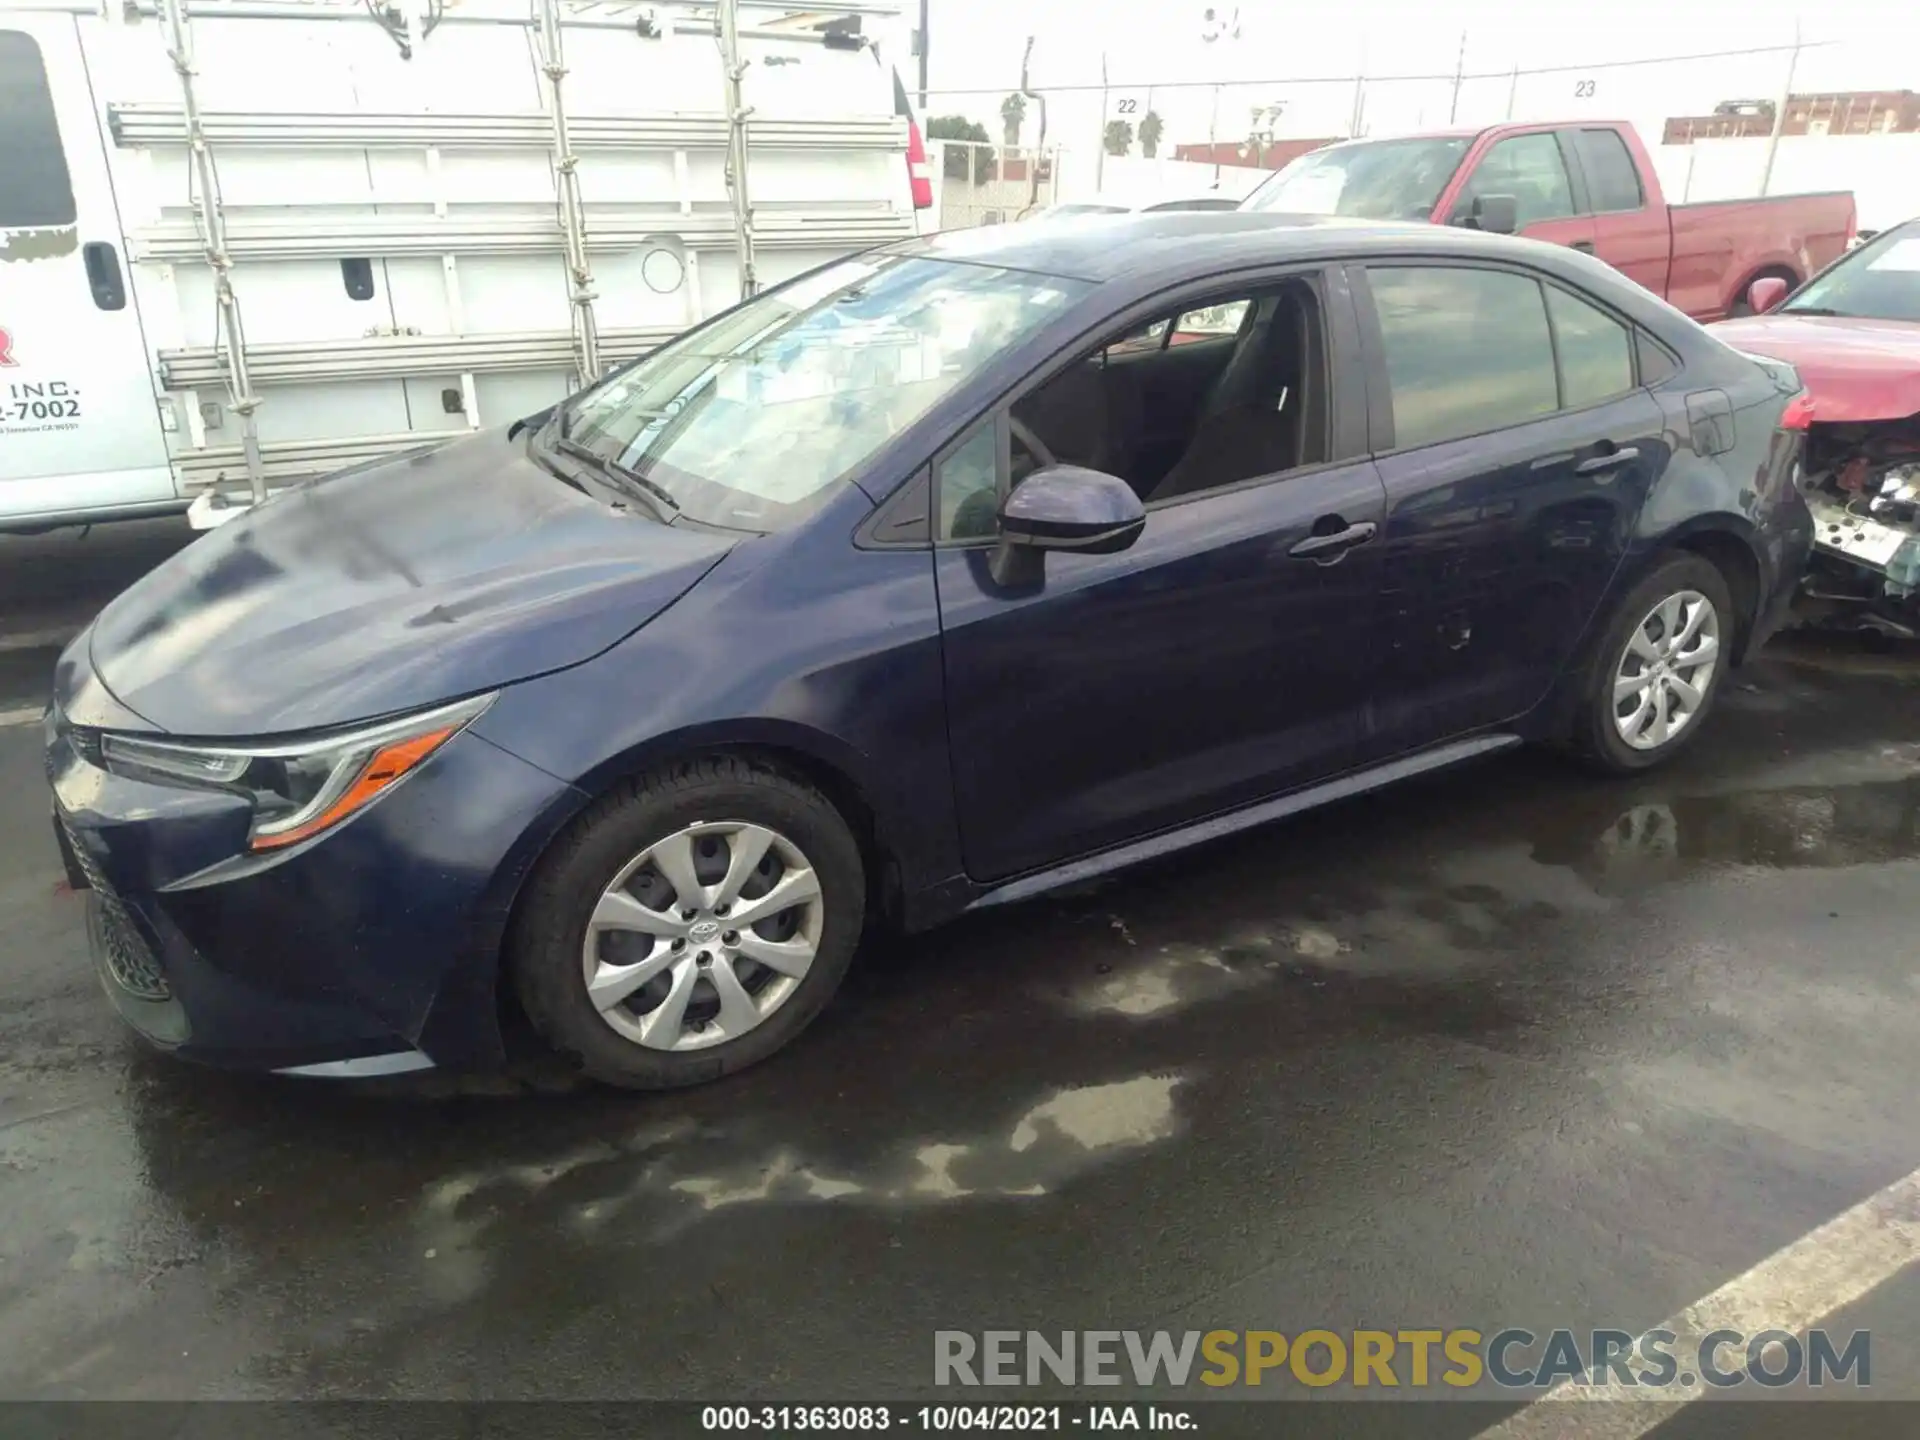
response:
<path id="1" fill-rule="evenodd" d="M 566 442 L 695 520 L 780 530 L 1087 288 L 902 255 L 829 265 L 582 396 Z"/>

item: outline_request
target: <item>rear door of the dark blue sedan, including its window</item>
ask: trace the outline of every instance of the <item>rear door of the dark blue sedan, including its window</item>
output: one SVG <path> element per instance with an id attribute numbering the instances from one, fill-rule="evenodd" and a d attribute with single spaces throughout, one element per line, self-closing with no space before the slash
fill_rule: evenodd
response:
<path id="1" fill-rule="evenodd" d="M 1371 355 L 1388 662 L 1379 760 L 1532 708 L 1624 559 L 1665 419 L 1622 319 L 1530 271 L 1356 275 Z"/>

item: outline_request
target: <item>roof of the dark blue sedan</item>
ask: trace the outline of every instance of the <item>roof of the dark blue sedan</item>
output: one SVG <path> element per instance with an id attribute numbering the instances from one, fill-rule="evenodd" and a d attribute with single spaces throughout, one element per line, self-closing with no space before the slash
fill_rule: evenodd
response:
<path id="1" fill-rule="evenodd" d="M 895 253 L 1037 271 L 1073 280 L 1150 278 L 1179 284 L 1215 271 L 1286 265 L 1332 255 L 1486 255 L 1540 261 L 1530 240 L 1440 225 L 1346 215 L 1177 209 L 1137 215 L 1066 215 L 1046 225 L 943 230 Z"/>

